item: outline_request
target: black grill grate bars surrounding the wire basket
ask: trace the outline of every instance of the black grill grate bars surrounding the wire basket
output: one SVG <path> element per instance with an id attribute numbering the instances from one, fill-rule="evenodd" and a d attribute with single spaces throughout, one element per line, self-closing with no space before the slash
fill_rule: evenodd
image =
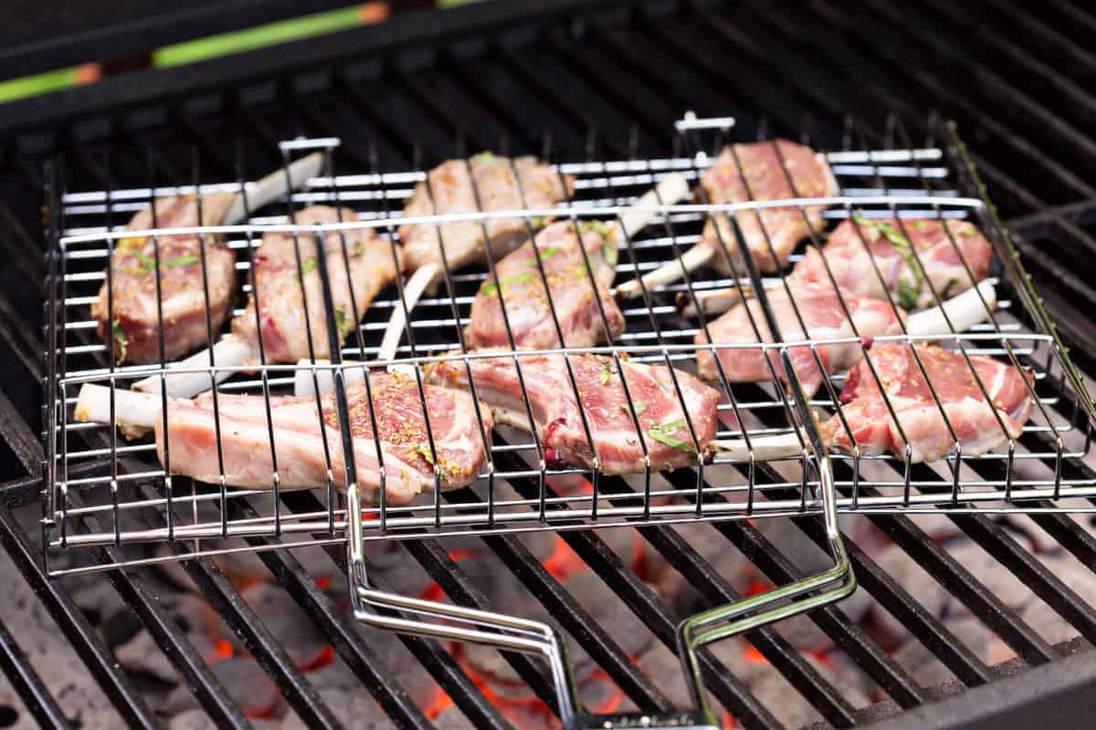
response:
<path id="1" fill-rule="evenodd" d="M 60 154 L 65 185 L 70 190 L 235 179 L 238 162 L 248 177 L 277 166 L 277 141 L 296 136 L 338 136 L 339 160 L 345 170 L 364 172 L 429 166 L 461 151 L 483 148 L 512 153 L 539 153 L 546 143 L 558 159 L 623 159 L 674 153 L 672 121 L 685 109 L 701 116 L 734 115 L 737 137 L 784 136 L 804 131 L 822 148 L 872 149 L 910 147 L 932 137 L 926 123 L 932 111 L 954 118 L 971 147 L 979 172 L 989 185 L 1024 264 L 1035 277 L 1072 355 L 1092 372 L 1096 341 L 1091 305 L 1096 292 L 1088 251 L 1096 241 L 1096 200 L 1084 181 L 1096 167 L 1096 142 L 1084 129 L 1096 97 L 1085 90 L 1096 59 L 1085 50 L 1096 16 L 1065 0 L 1048 0 L 1036 16 L 1030 11 L 994 3 L 977 23 L 962 9 L 928 2 L 915 13 L 883 0 L 865 3 L 856 15 L 843 5 L 811 2 L 801 8 L 766 3 L 658 2 L 552 4 L 541 14 L 495 8 L 455 11 L 449 23 L 467 23 L 446 33 L 391 47 L 383 28 L 341 34 L 326 46 L 296 47 L 285 54 L 256 51 L 248 60 L 215 61 L 187 77 L 172 80 L 151 71 L 132 81 L 104 82 L 98 91 L 77 90 L 54 104 L 18 103 L 5 123 L 4 166 L 0 171 L 5 221 L 0 245 L 10 262 L 0 277 L 0 336 L 7 362 L 0 395 L 0 436 L 7 453 L 0 457 L 0 541 L 21 577 L 65 633 L 87 671 L 121 717 L 133 726 L 157 727 L 157 717 L 141 699 L 133 677 L 119 669 L 85 617 L 75 605 L 66 581 L 48 581 L 37 535 L 20 526 L 18 514 L 36 513 L 32 505 L 43 488 L 39 335 L 43 300 L 43 242 L 39 206 L 45 178 L 42 164 Z M 564 8 L 566 5 L 566 8 Z M 412 16 L 397 24 L 408 27 Z M 403 25 L 388 38 L 402 38 Z M 261 63 L 260 63 L 261 62 Z M 252 66 L 252 63 L 259 66 Z M 228 83 L 235 74 L 263 68 L 253 78 Z M 175 85 L 179 84 L 179 85 Z M 165 95 L 164 95 L 165 94 Z M 515 100 L 520 100 L 515 103 Z M 857 119 L 852 121 L 850 119 Z M 843 119 L 849 119 L 843 121 Z M 547 142 L 546 142 L 547 140 Z M 941 143 L 939 138 L 936 143 Z M 152 154 L 148 154 L 148 150 Z M 194 155 L 193 150 L 197 150 Z M 197 163 L 195 163 L 197 160 Z M 151 167 L 151 170 L 150 170 Z M 1063 406 L 1064 407 L 1064 406 Z M 1065 410 L 1065 417 L 1076 413 Z M 1083 421 L 1077 421 L 1083 426 Z M 1096 473 L 1071 464 L 1068 478 L 1092 479 Z M 993 478 L 992 472 L 982 475 Z M 778 480 L 766 473 L 761 479 Z M 515 485 L 521 489 L 521 485 Z M 527 485 L 528 486 L 528 485 Z M 528 488 L 535 491 L 535 486 Z M 787 498 L 796 494 L 788 490 Z M 285 498 L 293 511 L 317 510 L 310 495 Z M 237 509 L 247 508 L 238 506 Z M 249 517 L 241 511 L 233 517 Z M 835 727 L 867 723 L 879 715 L 914 708 L 941 694 L 1001 683 L 998 675 L 1024 668 L 1063 663 L 1063 653 L 1096 640 L 1096 609 L 1085 591 L 1055 576 L 1021 540 L 989 515 L 950 517 L 961 533 L 1026 584 L 1061 622 L 1083 637 L 1054 646 L 1008 607 L 992 587 L 968 571 L 948 543 L 928 537 L 918 519 L 876 515 L 870 522 L 927 572 L 933 592 L 958 599 L 1019 659 L 998 668 L 972 651 L 940 617 L 924 606 L 926 596 L 892 575 L 856 534 L 846 534 L 861 590 L 935 656 L 958 680 L 924 687 L 889 656 L 877 637 L 849 618 L 841 604 L 811 614 L 811 621 L 867 675 L 888 700 L 867 710 L 857 707 L 847 688 L 823 676 L 776 628 L 747 635 L 815 710 Z M 90 522 L 90 521 L 89 521 Z M 796 533 L 824 545 L 817 518 L 791 521 Z M 1096 540 L 1088 518 L 1040 514 L 1034 518 L 1040 541 L 1096 566 Z M 103 525 L 88 524 L 100 531 Z M 698 607 L 733 600 L 735 587 L 670 528 L 643 528 L 649 552 L 659 554 L 699 594 Z M 749 557 L 755 572 L 785 583 L 809 571 L 788 546 L 745 522 L 718 525 L 734 551 Z M 790 532 L 790 531 L 789 531 Z M 682 616 L 663 603 L 607 538 L 596 533 L 561 533 L 567 544 L 612 589 L 658 639 L 673 645 Z M 254 538 L 253 544 L 270 544 Z M 629 652 L 591 615 L 551 572 L 512 536 L 480 543 L 501 558 L 524 588 L 573 637 L 640 710 L 671 708 L 663 685 L 637 668 Z M 185 546 L 179 545 L 179 552 Z M 455 559 L 450 546 L 411 541 L 400 548 L 411 555 L 457 603 L 487 607 L 481 581 Z M 117 548 L 96 548 L 99 561 L 116 559 Z M 327 548 L 332 572 L 345 572 L 342 545 Z M 315 576 L 287 552 L 260 553 L 265 567 L 332 645 L 338 657 L 401 727 L 430 727 L 430 720 L 374 646 L 374 635 L 361 631 L 343 607 L 320 590 Z M 265 623 L 241 598 L 238 586 L 210 560 L 184 564 L 185 571 L 249 651 L 293 710 L 309 727 L 339 727 L 333 709 L 311 687 Z M 247 725 L 248 718 L 229 696 L 203 657 L 160 605 L 139 571 L 111 572 L 113 588 L 149 630 L 171 664 L 193 687 L 201 708 L 218 725 Z M 27 706 L 37 698 L 37 719 L 65 727 L 48 687 L 21 656 L 19 636 L 0 626 L 2 665 Z M 471 679 L 466 668 L 438 645 L 413 637 L 400 641 L 414 654 L 460 711 L 478 727 L 506 727 L 507 720 Z M 1084 659 L 1084 654 L 1073 660 Z M 522 681 L 545 703 L 555 703 L 550 677 L 534 660 L 507 656 Z M 1091 661 L 1091 660 L 1089 660 Z M 772 707 L 755 696 L 722 660 L 706 654 L 703 662 L 713 698 L 744 727 L 775 728 Z M 1091 667 L 1091 663 L 1088 664 Z M 1063 672 L 1064 673 L 1064 672 Z M 1070 674 L 1070 673 L 1065 673 Z M 1083 671 L 1072 672 L 1074 681 Z M 1062 690 L 1036 670 L 1028 684 Z M 1083 694 L 1070 695 L 1075 702 Z M 1016 693 L 1014 697 L 1018 696 Z M 1091 694 L 1091 693 L 1088 693 Z M 986 704 L 964 721 L 975 722 L 1005 708 Z M 1013 709 L 996 727 L 1020 727 L 1034 703 Z M 1025 709 L 1026 708 L 1026 709 Z M 895 727 L 902 726 L 894 719 Z M 975 727 L 971 725 L 970 727 Z"/>

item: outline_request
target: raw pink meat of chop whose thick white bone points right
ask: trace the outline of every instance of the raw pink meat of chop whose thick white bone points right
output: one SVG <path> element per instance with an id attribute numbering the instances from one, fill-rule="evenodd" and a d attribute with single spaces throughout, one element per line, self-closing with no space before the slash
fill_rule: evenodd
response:
<path id="1" fill-rule="evenodd" d="M 776 287 L 767 292 L 784 341 L 871 338 L 900 332 L 895 310 L 889 302 L 859 297 L 849 291 L 838 293 L 830 283 L 791 283 L 789 288 L 790 296 L 784 287 Z M 842 306 L 842 299 L 848 308 L 847 315 Z M 755 344 L 758 341 L 757 333 L 761 333 L 762 341 L 773 341 L 761 302 L 756 299 L 750 299 L 732 308 L 708 325 L 710 341 L 718 345 Z M 708 334 L 701 329 L 696 335 L 696 344 L 707 345 Z M 765 382 L 773 376 L 774 371 L 778 378 L 787 381 L 788 376 L 780 362 L 778 349 L 723 348 L 717 349 L 716 352 L 717 355 L 712 356 L 710 350 L 697 350 L 697 372 L 705 380 L 719 379 L 719 368 L 716 364 L 718 357 L 723 376 L 729 382 Z M 817 352 L 818 360 L 814 359 L 809 346 L 792 347 L 788 350 L 792 368 L 808 397 L 818 392 L 825 374 L 847 370 L 863 357 L 860 343 L 855 339 L 849 343 L 821 345 L 817 348 Z"/>

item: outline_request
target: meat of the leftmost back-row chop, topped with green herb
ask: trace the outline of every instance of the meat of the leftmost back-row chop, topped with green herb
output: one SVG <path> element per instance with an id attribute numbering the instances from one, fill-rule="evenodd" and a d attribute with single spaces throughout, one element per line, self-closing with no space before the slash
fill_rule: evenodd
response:
<path id="1" fill-rule="evenodd" d="M 202 196 L 202 219 L 219 223 L 236 195 L 212 193 Z M 198 224 L 198 199 L 179 195 L 156 201 L 157 228 L 186 228 Z M 151 229 L 152 209 L 140 210 L 126 225 L 128 230 Z M 156 262 L 159 244 L 159 269 Z M 217 332 L 228 314 L 236 286 L 236 254 L 216 236 L 205 236 L 205 278 L 209 291 L 209 321 L 202 270 L 203 239 L 196 234 L 132 236 L 119 239 L 111 256 L 112 296 L 107 281 L 91 305 L 103 341 L 114 339 L 118 362 L 147 364 L 160 360 L 160 308 L 157 306 L 157 270 L 163 316 L 163 358 L 173 360 L 208 341 L 207 324 Z M 113 308 L 107 306 L 113 299 Z M 113 312 L 111 311 L 113 309 Z M 113 315 L 113 321 L 112 321 Z"/>

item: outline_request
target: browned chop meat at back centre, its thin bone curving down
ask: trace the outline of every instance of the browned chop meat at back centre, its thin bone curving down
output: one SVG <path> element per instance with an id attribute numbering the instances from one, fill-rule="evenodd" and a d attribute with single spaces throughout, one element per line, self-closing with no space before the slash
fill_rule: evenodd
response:
<path id="1" fill-rule="evenodd" d="M 536 158 L 503 158 L 481 152 L 465 160 L 448 160 L 427 173 L 427 182 L 415 185 L 403 209 L 407 217 L 445 213 L 493 212 L 523 208 L 555 208 L 570 197 L 574 178 L 560 175 Z M 539 222 L 539 221 L 535 221 Z M 426 264 L 447 263 L 453 269 L 486 260 L 490 246 L 495 258 L 528 239 L 524 218 L 491 218 L 441 224 L 407 224 L 399 230 L 410 270 Z M 484 237 L 484 229 L 487 235 Z M 441 243 L 445 243 L 445 262 Z"/>

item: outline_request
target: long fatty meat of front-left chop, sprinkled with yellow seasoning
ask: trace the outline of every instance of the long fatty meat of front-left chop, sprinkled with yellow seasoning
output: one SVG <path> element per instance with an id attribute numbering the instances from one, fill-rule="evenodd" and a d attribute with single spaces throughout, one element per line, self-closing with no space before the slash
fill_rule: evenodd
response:
<path id="1" fill-rule="evenodd" d="M 443 489 L 455 489 L 476 479 L 487 451 L 470 395 L 424 385 L 422 394 L 436 449 L 432 453 L 415 379 L 402 373 L 373 372 L 369 385 L 384 454 L 388 503 L 407 505 L 420 493 L 433 489 L 435 464 Z M 331 454 L 334 486 L 346 488 L 342 438 L 333 398 L 332 393 L 320 401 L 322 429 L 316 398 L 271 399 L 274 449 L 283 489 L 327 485 L 324 439 Z M 366 493 L 376 493 L 380 488 L 378 439 L 374 436 L 364 381 L 347 385 L 346 401 L 358 486 Z M 217 409 L 226 482 L 237 487 L 270 488 L 274 483 L 274 468 L 263 397 L 218 394 Z M 487 408 L 481 410 L 484 429 L 490 434 L 493 426 L 490 414 Z M 221 471 L 210 394 L 194 401 L 170 401 L 168 433 L 173 474 L 219 483 Z M 156 443 L 162 463 L 162 418 L 156 419 Z"/>

